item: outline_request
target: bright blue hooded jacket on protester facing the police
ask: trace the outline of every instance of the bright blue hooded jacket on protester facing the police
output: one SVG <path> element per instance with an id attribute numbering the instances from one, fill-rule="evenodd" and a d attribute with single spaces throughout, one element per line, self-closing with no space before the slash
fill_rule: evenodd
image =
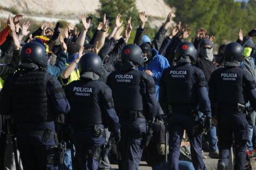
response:
<path id="1" fill-rule="evenodd" d="M 160 81 L 160 78 L 163 74 L 164 69 L 168 68 L 169 62 L 168 60 L 163 57 L 163 55 L 158 54 L 158 51 L 156 49 L 151 49 L 152 51 L 152 59 L 148 63 L 148 69 L 150 70 L 153 75 L 153 79 L 155 80 L 155 88 L 156 88 L 156 98 L 158 99 L 159 97 L 159 86 L 158 83 Z M 140 67 L 139 70 L 146 70 L 145 67 Z"/>

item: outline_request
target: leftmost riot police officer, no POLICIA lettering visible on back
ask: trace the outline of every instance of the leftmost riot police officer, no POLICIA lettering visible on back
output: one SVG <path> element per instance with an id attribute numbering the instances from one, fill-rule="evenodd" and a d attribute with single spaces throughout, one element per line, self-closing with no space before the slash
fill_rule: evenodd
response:
<path id="1" fill-rule="evenodd" d="M 19 46 L 14 55 L 19 55 Z M 59 81 L 45 71 L 45 47 L 25 44 L 19 70 L 4 82 L 0 107 L 17 127 L 17 143 L 24 169 L 58 169 L 54 119 L 70 110 Z"/>

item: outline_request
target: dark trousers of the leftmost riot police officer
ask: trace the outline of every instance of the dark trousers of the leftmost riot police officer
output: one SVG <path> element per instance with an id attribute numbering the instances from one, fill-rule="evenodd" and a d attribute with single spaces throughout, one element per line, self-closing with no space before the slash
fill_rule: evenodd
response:
<path id="1" fill-rule="evenodd" d="M 53 138 L 43 142 L 39 135 L 17 134 L 17 144 L 23 169 L 58 169 L 58 164 L 48 161 L 54 157 L 51 147 L 56 142 Z"/>

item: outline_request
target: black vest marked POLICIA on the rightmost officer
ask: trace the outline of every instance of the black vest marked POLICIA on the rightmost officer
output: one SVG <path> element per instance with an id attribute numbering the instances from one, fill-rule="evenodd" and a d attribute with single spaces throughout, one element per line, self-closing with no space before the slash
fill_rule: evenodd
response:
<path id="1" fill-rule="evenodd" d="M 245 104 L 245 91 L 242 79 L 245 70 L 237 68 L 220 68 L 214 76 L 216 82 L 216 102 L 219 105 Z"/>

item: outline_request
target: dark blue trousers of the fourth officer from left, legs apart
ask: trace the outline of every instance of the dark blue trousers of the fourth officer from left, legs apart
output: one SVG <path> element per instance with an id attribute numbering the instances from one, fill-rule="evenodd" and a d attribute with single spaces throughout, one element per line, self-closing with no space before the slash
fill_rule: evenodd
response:
<path id="1" fill-rule="evenodd" d="M 190 139 L 192 163 L 195 169 L 206 169 L 202 158 L 202 135 L 196 135 L 194 118 L 190 113 L 173 113 L 169 116 L 169 168 L 179 169 L 179 150 L 186 130 Z"/>

